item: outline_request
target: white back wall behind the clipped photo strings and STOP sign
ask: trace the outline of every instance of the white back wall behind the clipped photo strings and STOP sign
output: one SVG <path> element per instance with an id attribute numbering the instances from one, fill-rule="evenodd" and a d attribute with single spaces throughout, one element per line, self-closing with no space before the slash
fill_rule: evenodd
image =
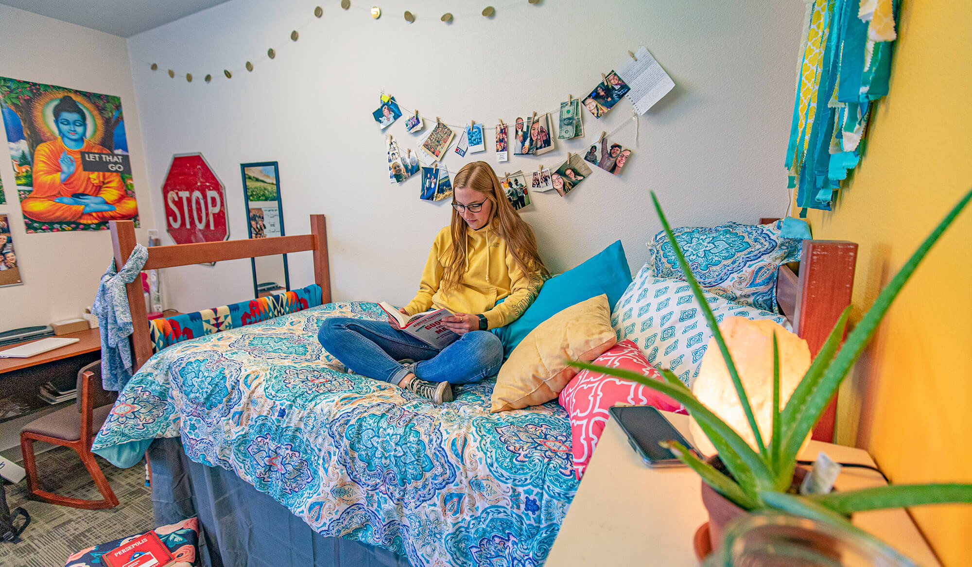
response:
<path id="1" fill-rule="evenodd" d="M 487 125 L 502 117 L 559 108 L 644 45 L 677 88 L 641 120 L 640 146 L 618 179 L 595 170 L 566 199 L 535 194 L 523 217 L 533 224 L 549 267 L 563 271 L 620 238 L 632 269 L 660 228 L 654 190 L 679 225 L 781 216 L 782 167 L 793 101 L 801 2 L 762 0 L 560 0 L 473 16 L 451 25 L 444 12 L 477 15 L 486 2 L 413 0 L 383 7 L 373 20 L 336 2 L 313 17 L 313 3 L 234 0 L 128 41 L 149 180 L 162 182 L 173 153 L 202 151 L 226 184 L 231 238 L 245 238 L 239 164 L 280 162 L 288 234 L 309 230 L 308 214 L 328 215 L 336 299 L 409 300 L 445 203 L 420 201 L 419 181 L 388 183 L 385 140 L 370 113 L 382 89 L 429 117 Z M 418 20 L 408 24 L 404 8 Z M 296 44 L 288 39 L 300 30 Z M 277 48 L 274 60 L 267 48 Z M 242 70 L 250 59 L 253 73 Z M 150 70 L 158 63 L 160 70 Z M 224 68 L 240 69 L 227 81 Z M 165 69 L 191 72 L 192 83 Z M 213 83 L 200 81 L 212 73 Z M 631 117 L 625 100 L 607 117 L 584 115 L 587 137 L 540 157 L 497 164 L 492 150 L 450 154 L 456 172 L 484 159 L 501 171 L 556 166 L 602 130 Z M 402 147 L 416 138 L 403 120 L 390 131 Z M 633 146 L 635 131 L 618 141 Z M 487 144 L 493 142 L 487 134 Z M 164 226 L 159 191 L 156 223 Z M 167 241 L 167 235 L 163 237 Z M 309 254 L 291 258 L 292 283 L 313 281 Z M 184 311 L 252 296 L 249 262 L 168 270 L 167 306 Z"/>

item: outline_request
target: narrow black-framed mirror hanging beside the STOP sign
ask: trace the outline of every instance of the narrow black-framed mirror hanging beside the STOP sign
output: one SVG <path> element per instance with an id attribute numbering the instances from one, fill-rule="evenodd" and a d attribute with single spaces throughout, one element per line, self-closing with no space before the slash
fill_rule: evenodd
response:
<path id="1" fill-rule="evenodd" d="M 240 164 L 243 196 L 246 199 L 247 231 L 250 238 L 284 236 L 283 202 L 276 161 Z M 289 291 L 291 277 L 287 254 L 250 258 L 256 297 Z"/>

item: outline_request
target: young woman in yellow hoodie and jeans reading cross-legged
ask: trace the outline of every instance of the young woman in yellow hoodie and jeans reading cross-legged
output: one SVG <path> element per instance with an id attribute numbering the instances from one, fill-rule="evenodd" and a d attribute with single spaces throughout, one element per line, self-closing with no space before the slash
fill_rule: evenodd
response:
<path id="1" fill-rule="evenodd" d="M 326 319 L 318 333 L 349 370 L 436 404 L 452 401 L 450 384 L 499 372 L 503 345 L 488 329 L 520 317 L 549 276 L 533 229 L 506 200 L 488 163 L 467 164 L 452 183 L 452 222 L 435 235 L 419 291 L 399 311 L 445 308 L 454 315 L 442 321 L 459 340 L 437 350 L 388 322 L 349 317 Z"/>

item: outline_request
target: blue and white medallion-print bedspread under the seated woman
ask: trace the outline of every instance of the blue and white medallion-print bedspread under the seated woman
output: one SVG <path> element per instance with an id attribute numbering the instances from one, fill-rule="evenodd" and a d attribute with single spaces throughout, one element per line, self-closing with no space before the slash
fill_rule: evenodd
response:
<path id="1" fill-rule="evenodd" d="M 493 381 L 434 406 L 342 372 L 317 341 L 326 317 L 386 318 L 372 303 L 332 303 L 161 350 L 93 448 L 179 436 L 193 461 L 234 472 L 322 535 L 415 566 L 541 565 L 577 486 L 564 410 L 490 414 Z"/>

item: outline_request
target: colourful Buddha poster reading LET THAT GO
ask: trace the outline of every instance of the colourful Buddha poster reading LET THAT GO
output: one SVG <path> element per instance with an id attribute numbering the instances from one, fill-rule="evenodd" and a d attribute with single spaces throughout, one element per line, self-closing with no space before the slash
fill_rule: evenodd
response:
<path id="1" fill-rule="evenodd" d="M 0 113 L 28 233 L 138 226 L 121 98 L 0 78 Z"/>

